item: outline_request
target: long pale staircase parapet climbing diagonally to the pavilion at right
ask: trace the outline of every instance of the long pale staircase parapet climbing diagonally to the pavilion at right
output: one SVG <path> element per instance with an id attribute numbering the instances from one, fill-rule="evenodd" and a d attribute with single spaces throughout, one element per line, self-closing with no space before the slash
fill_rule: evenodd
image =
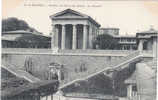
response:
<path id="1" fill-rule="evenodd" d="M 135 51 L 135 52 L 129 54 L 128 56 L 120 58 L 119 60 L 112 61 L 111 64 L 108 67 L 104 68 L 104 69 L 101 69 L 101 70 L 99 70 L 95 73 L 91 73 L 91 74 L 87 74 L 85 76 L 79 77 L 77 79 L 74 79 L 73 81 L 67 82 L 66 84 L 61 85 L 59 87 L 59 89 L 67 87 L 67 86 L 69 86 L 69 85 L 71 85 L 75 82 L 79 82 L 79 81 L 82 81 L 82 80 L 87 80 L 89 78 L 92 78 L 92 77 L 100 74 L 100 73 L 104 73 L 105 75 L 108 76 L 108 74 L 110 74 L 111 72 L 113 72 L 115 70 L 124 69 L 126 67 L 124 65 L 126 65 L 128 63 L 140 61 L 142 57 L 143 56 L 141 55 L 141 53 L 139 51 Z"/>

